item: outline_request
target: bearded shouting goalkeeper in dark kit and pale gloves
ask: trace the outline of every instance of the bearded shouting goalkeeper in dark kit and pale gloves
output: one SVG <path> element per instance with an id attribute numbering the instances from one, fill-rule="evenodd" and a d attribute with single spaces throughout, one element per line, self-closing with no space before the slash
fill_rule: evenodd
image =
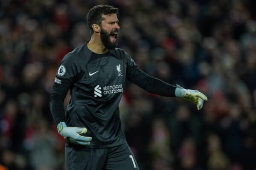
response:
<path id="1" fill-rule="evenodd" d="M 118 8 L 94 6 L 87 14 L 91 38 L 61 61 L 50 109 L 58 133 L 65 138 L 67 170 L 138 170 L 119 117 L 125 80 L 150 93 L 180 97 L 200 110 L 207 97 L 199 91 L 149 76 L 122 49 L 116 48 Z M 70 89 L 71 100 L 63 101 Z"/>

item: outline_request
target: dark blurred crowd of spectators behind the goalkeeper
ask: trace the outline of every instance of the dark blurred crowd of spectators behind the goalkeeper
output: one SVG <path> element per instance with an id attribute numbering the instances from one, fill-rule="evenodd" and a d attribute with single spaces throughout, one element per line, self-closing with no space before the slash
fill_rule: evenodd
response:
<path id="1" fill-rule="evenodd" d="M 118 47 L 143 71 L 208 96 L 197 111 L 127 82 L 120 116 L 140 170 L 256 168 L 256 1 L 0 0 L 0 170 L 64 170 L 49 94 L 99 4 L 119 8 Z"/>

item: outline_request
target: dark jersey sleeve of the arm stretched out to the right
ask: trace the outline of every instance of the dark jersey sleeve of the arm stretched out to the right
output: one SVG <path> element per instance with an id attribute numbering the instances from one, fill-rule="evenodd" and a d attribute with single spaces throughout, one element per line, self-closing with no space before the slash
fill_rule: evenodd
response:
<path id="1" fill-rule="evenodd" d="M 134 82 L 136 85 L 150 93 L 160 96 L 175 97 L 176 86 L 146 74 L 126 52 L 125 56 L 127 59 L 126 79 Z"/>

